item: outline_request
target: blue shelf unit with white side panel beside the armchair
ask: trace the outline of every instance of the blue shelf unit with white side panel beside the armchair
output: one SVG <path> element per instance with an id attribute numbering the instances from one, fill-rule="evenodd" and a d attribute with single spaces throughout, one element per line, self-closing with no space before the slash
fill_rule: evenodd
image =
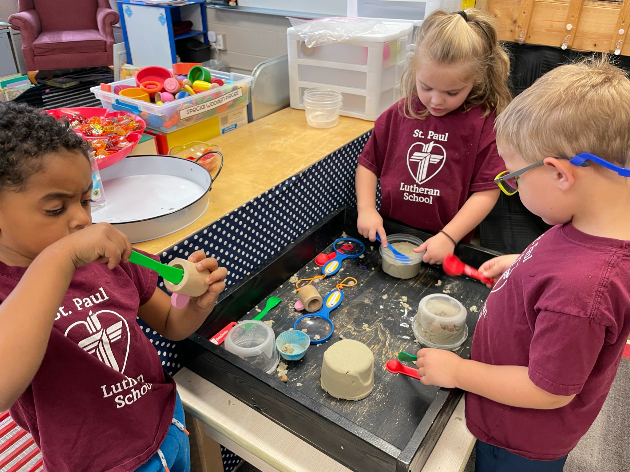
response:
<path id="1" fill-rule="evenodd" d="M 135 0 L 118 0 L 127 62 L 139 67 L 160 65 L 171 68 L 177 62 L 175 41 L 198 38 L 208 44 L 205 0 L 189 0 L 181 5 L 153 5 Z M 173 21 L 193 22 L 193 30 L 175 36 Z"/>

